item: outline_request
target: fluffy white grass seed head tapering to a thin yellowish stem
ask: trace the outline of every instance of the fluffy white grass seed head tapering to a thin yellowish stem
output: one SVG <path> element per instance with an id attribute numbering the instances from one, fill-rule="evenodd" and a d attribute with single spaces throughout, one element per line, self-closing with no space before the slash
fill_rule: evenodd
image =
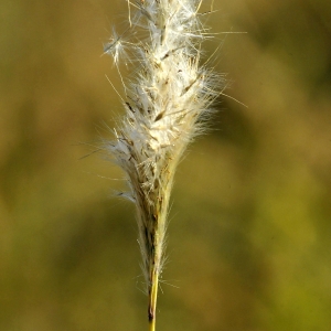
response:
<path id="1" fill-rule="evenodd" d="M 127 30 L 105 46 L 118 71 L 121 54 L 130 47 L 127 65 L 135 71 L 130 83 L 124 83 L 126 115 L 115 130 L 116 140 L 107 148 L 125 171 L 130 188 L 121 195 L 137 207 L 150 331 L 156 328 L 174 171 L 188 143 L 203 129 L 215 90 L 220 90 L 218 76 L 200 63 L 201 43 L 207 36 L 200 21 L 201 2 L 128 3 L 131 10 Z"/>

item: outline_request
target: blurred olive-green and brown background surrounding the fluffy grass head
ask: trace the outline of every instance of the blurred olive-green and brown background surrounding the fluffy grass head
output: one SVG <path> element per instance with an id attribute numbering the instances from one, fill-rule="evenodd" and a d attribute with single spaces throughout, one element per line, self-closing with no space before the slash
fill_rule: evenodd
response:
<path id="1" fill-rule="evenodd" d="M 178 169 L 157 329 L 329 331 L 330 1 L 214 10 L 232 98 Z M 94 153 L 122 111 L 100 55 L 126 18 L 124 0 L 0 1 L 0 330 L 148 328 L 135 209 Z"/>

